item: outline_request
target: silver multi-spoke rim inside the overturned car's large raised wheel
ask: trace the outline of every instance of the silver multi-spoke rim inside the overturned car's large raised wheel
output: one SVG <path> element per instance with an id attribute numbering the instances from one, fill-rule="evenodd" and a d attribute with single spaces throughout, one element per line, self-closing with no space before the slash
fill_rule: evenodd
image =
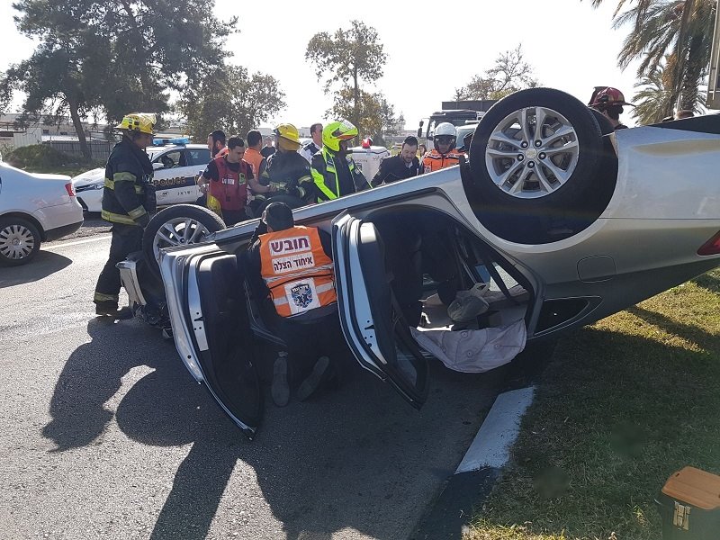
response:
<path id="1" fill-rule="evenodd" d="M 498 122 L 488 139 L 485 166 L 493 184 L 518 199 L 555 193 L 578 165 L 578 134 L 560 112 L 526 107 Z"/>

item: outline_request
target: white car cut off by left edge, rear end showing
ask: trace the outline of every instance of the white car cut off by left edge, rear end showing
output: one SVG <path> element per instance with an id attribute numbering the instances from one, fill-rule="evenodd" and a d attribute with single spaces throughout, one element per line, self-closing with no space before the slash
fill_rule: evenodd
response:
<path id="1" fill-rule="evenodd" d="M 40 242 L 80 229 L 83 208 L 66 175 L 33 175 L 0 162 L 0 265 L 29 262 Z"/>

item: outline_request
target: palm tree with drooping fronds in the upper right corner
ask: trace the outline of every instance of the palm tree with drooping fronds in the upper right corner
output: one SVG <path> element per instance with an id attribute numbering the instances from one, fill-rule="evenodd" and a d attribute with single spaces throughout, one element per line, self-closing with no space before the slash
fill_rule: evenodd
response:
<path id="1" fill-rule="evenodd" d="M 602 2 L 592 0 L 595 7 Z M 620 13 L 625 4 L 635 5 Z M 625 68 L 643 58 L 637 75 L 652 77 L 669 56 L 662 70 L 671 94 L 662 116 L 672 114 L 679 96 L 680 108 L 696 108 L 699 81 L 707 75 L 710 60 L 715 10 L 716 0 L 617 0 L 613 27 L 633 26 L 618 54 L 618 65 Z"/>

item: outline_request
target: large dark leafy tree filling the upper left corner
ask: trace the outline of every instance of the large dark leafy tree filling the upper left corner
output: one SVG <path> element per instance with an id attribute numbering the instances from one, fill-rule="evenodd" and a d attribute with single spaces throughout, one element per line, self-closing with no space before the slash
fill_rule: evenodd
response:
<path id="1" fill-rule="evenodd" d="M 207 0 L 19 0 L 15 23 L 40 44 L 5 72 L 0 103 L 20 90 L 24 112 L 68 113 L 89 157 L 85 114 L 113 122 L 166 112 L 168 90 L 193 87 L 222 63 L 237 18 L 220 23 L 210 8 Z"/>

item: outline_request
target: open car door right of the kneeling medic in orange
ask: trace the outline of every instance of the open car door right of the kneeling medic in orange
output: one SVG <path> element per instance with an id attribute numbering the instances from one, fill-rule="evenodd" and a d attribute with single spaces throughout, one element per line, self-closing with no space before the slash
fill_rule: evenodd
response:
<path id="1" fill-rule="evenodd" d="M 419 409 L 428 398 L 428 361 L 392 292 L 383 239 L 372 222 L 343 213 L 333 220 L 332 241 L 338 311 L 350 350 Z"/>

